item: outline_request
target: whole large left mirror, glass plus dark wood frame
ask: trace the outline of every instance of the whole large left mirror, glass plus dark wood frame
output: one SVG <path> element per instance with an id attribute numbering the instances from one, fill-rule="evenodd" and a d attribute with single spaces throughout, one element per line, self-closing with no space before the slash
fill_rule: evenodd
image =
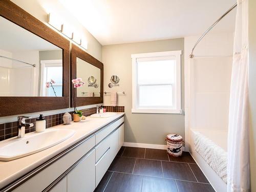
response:
<path id="1" fill-rule="evenodd" d="M 0 2 L 0 116 L 69 107 L 70 42 Z"/>

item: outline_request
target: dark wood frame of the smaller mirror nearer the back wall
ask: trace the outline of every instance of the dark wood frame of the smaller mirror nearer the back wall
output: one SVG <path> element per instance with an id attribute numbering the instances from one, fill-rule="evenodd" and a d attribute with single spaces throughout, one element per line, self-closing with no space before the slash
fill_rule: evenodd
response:
<path id="1" fill-rule="evenodd" d="M 100 69 L 100 97 L 77 97 L 75 91 L 75 99 L 76 99 L 76 106 L 83 106 L 89 104 L 97 104 L 103 103 L 103 63 L 94 58 L 93 56 L 89 55 L 87 52 L 81 50 L 79 47 L 75 46 L 74 44 L 71 45 L 71 78 L 75 79 L 76 77 L 76 58 L 79 57 L 80 59 L 89 62 L 91 65 Z M 74 107 L 73 104 L 73 84 L 71 82 L 71 106 Z"/>

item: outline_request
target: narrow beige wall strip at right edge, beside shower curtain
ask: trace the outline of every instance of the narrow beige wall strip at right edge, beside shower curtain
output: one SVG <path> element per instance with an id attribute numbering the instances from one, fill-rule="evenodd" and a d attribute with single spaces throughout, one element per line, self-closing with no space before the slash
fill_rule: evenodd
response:
<path id="1" fill-rule="evenodd" d="M 256 1 L 249 0 L 250 182 L 256 191 Z"/>

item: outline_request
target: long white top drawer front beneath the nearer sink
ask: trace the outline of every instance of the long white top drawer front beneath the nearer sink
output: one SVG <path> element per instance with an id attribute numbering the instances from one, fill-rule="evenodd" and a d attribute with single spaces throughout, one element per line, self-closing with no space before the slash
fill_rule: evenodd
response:
<path id="1" fill-rule="evenodd" d="M 95 146 L 95 135 L 88 140 L 81 143 L 79 146 L 70 151 L 67 155 L 58 159 L 56 162 L 42 170 L 40 173 L 29 179 L 18 188 L 15 192 L 33 191 L 39 192 L 44 190 L 54 180 L 56 180 L 62 173 L 71 167 L 78 159 L 84 156 Z"/>

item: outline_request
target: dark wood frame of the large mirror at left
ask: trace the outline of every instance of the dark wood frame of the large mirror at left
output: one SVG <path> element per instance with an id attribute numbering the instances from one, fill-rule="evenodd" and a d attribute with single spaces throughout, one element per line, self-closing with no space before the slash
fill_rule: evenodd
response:
<path id="1" fill-rule="evenodd" d="M 0 16 L 62 49 L 62 97 L 0 97 L 0 117 L 69 108 L 70 41 L 9 0 L 0 1 Z"/>

